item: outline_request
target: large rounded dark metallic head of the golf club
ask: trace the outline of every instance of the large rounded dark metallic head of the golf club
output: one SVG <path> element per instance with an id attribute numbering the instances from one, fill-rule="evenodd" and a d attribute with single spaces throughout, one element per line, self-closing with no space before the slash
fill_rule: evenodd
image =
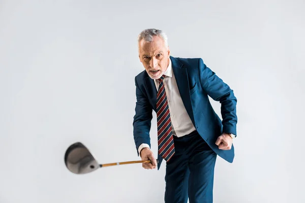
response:
<path id="1" fill-rule="evenodd" d="M 87 174 L 100 168 L 92 153 L 80 142 L 70 145 L 67 149 L 65 164 L 74 174 Z"/>

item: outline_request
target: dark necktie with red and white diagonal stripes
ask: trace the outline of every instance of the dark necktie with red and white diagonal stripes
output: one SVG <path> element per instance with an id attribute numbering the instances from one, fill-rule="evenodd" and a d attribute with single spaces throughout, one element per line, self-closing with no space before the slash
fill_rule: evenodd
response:
<path id="1" fill-rule="evenodd" d="M 172 127 L 163 84 L 163 75 L 158 81 L 160 82 L 157 94 L 157 126 L 158 126 L 158 153 L 168 161 L 175 153 L 174 140 L 172 136 Z"/>

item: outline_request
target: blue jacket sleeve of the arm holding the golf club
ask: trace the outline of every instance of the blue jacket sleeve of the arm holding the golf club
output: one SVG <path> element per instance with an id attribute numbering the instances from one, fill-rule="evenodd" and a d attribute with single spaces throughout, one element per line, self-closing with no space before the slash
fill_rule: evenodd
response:
<path id="1" fill-rule="evenodd" d="M 133 135 L 136 144 L 137 153 L 141 144 L 150 146 L 149 131 L 151 126 L 151 119 L 153 118 L 153 108 L 149 104 L 147 96 L 141 91 L 138 86 L 137 78 L 135 78 L 136 85 L 136 107 L 135 116 L 133 120 Z"/>

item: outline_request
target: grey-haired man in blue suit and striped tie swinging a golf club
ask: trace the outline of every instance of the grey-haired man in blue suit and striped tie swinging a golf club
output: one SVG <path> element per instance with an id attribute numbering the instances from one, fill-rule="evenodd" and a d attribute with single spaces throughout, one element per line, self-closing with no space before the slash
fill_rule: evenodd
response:
<path id="1" fill-rule="evenodd" d="M 138 37 L 145 71 L 135 77 L 134 140 L 143 167 L 166 161 L 165 202 L 212 202 L 214 168 L 219 155 L 233 162 L 236 103 L 233 90 L 201 58 L 170 56 L 162 30 L 145 29 Z M 221 103 L 221 121 L 208 96 Z M 158 161 L 150 150 L 152 111 L 157 113 Z"/>

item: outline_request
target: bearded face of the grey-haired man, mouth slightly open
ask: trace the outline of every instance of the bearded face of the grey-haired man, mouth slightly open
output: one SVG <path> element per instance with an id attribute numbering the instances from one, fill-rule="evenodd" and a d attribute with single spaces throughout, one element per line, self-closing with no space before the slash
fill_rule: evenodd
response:
<path id="1" fill-rule="evenodd" d="M 169 64 L 169 49 L 162 38 L 155 36 L 153 41 L 141 40 L 139 43 L 139 58 L 151 79 L 159 79 Z"/>

